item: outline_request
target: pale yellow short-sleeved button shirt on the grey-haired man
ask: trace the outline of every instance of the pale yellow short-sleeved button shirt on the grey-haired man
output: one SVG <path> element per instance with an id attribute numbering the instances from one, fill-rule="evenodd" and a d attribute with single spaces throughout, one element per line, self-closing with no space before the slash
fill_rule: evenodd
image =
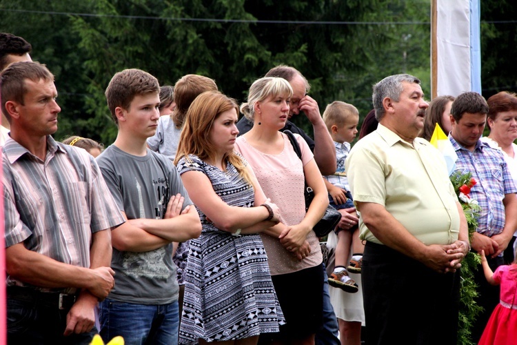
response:
<path id="1" fill-rule="evenodd" d="M 426 245 L 452 244 L 460 217 L 456 193 L 440 152 L 428 141 L 413 144 L 379 124 L 352 148 L 346 171 L 354 203 L 373 202 Z M 359 221 L 361 239 L 382 244 Z"/>

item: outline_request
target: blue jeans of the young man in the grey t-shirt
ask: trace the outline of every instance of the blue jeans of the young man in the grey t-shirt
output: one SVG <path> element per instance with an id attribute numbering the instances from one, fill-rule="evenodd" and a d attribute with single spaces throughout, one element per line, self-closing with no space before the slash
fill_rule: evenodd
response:
<path id="1" fill-rule="evenodd" d="M 132 304 L 105 299 L 99 312 L 101 337 L 106 344 L 121 335 L 126 345 L 177 345 L 178 302 Z"/>

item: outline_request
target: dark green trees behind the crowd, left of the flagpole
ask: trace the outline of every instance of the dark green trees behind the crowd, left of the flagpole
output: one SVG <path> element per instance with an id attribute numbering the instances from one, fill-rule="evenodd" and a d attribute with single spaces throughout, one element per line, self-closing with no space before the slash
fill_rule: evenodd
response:
<path id="1" fill-rule="evenodd" d="M 254 79 L 285 63 L 309 79 L 321 112 L 338 99 L 362 117 L 372 84 L 386 75 L 414 73 L 429 95 L 429 12 L 429 0 L 0 0 L 1 30 L 30 41 L 32 58 L 56 75 L 57 139 L 106 145 L 116 128 L 103 92 L 123 68 L 147 70 L 161 84 L 206 75 L 244 101 Z M 312 132 L 304 117 L 295 121 Z"/>

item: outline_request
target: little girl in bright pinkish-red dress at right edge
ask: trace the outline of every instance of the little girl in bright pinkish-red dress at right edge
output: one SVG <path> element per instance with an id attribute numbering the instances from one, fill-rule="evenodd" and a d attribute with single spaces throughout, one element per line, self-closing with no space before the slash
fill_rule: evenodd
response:
<path id="1" fill-rule="evenodd" d="M 500 284 L 500 302 L 488 320 L 479 340 L 480 345 L 515 344 L 517 339 L 517 261 L 499 266 L 493 273 L 488 266 L 485 250 L 481 250 L 481 264 L 487 282 Z"/>

